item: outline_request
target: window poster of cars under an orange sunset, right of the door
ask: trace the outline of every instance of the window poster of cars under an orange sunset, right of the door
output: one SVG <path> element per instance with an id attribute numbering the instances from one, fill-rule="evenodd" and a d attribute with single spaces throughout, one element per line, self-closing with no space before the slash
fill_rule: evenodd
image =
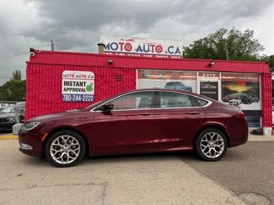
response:
<path id="1" fill-rule="evenodd" d="M 260 74 L 222 73 L 221 100 L 243 110 L 260 110 Z"/>

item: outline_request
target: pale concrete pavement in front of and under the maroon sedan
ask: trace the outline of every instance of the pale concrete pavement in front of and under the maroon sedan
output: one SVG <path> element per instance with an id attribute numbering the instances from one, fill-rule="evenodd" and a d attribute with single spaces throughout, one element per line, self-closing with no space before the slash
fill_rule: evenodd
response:
<path id="1" fill-rule="evenodd" d="M 245 204 L 175 154 L 104 156 L 71 168 L 0 141 L 0 204 Z"/>

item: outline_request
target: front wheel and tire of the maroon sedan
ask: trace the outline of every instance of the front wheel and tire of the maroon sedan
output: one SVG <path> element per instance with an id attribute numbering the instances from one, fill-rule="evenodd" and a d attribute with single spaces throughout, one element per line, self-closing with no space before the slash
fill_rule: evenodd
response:
<path id="1" fill-rule="evenodd" d="M 86 142 L 74 131 L 54 133 L 47 141 L 45 154 L 56 167 L 72 167 L 82 161 L 86 153 Z"/>

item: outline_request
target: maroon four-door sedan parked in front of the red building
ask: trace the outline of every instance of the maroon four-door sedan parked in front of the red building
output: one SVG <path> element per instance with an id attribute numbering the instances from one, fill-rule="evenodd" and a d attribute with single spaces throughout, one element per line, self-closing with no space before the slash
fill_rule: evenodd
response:
<path id="1" fill-rule="evenodd" d="M 144 89 L 29 119 L 18 142 L 25 154 L 70 167 L 85 155 L 190 150 L 217 161 L 247 137 L 245 114 L 237 107 L 189 92 Z"/>

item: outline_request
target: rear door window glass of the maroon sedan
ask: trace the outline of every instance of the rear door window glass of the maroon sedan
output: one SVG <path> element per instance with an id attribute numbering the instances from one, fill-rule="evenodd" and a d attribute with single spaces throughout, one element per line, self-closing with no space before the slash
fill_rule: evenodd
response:
<path id="1" fill-rule="evenodd" d="M 192 107 L 192 102 L 186 94 L 160 92 L 160 107 Z"/>

